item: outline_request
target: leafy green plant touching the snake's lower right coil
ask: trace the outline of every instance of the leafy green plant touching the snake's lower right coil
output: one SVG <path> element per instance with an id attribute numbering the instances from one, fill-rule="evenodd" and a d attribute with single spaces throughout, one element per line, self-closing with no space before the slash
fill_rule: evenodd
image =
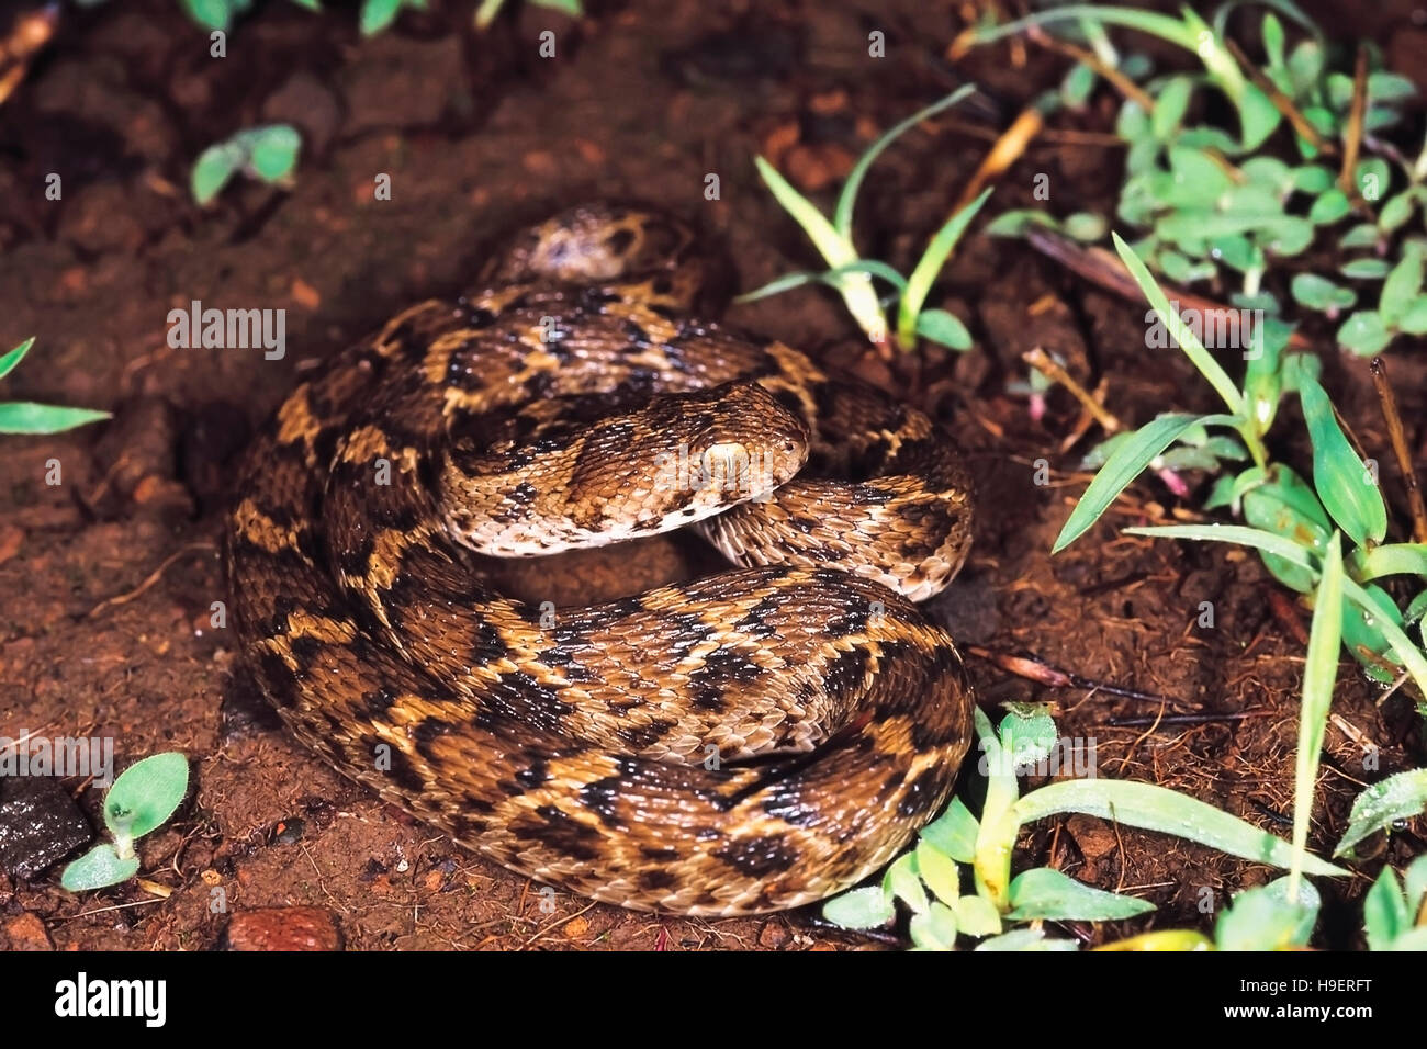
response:
<path id="1" fill-rule="evenodd" d="M 922 829 L 916 848 L 892 863 L 880 886 L 828 901 L 828 921 L 843 928 L 883 926 L 895 919 L 896 901 L 902 901 L 912 912 L 912 942 L 922 949 L 950 949 L 958 936 L 965 936 L 982 941 L 977 951 L 1075 951 L 1073 941 L 1047 938 L 1040 922 L 1117 921 L 1153 911 L 1146 901 L 1083 885 L 1053 868 L 1033 868 L 1012 878 L 1020 828 L 1066 812 L 1173 833 L 1294 872 L 1347 873 L 1301 845 L 1153 784 L 1063 779 L 1019 796 L 1017 769 L 1050 755 L 1056 746 L 1055 722 L 1042 711 L 1019 708 L 1006 715 L 997 732 L 979 709 L 975 718 L 986 775 L 980 818 L 953 798 L 946 812 Z M 1183 936 L 1189 939 L 1180 946 L 1199 946 L 1194 933 Z"/>

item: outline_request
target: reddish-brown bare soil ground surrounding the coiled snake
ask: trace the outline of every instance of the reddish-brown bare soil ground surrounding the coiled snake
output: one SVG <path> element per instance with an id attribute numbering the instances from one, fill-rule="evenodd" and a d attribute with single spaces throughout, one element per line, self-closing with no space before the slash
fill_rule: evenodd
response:
<path id="1" fill-rule="evenodd" d="M 227 464 L 305 365 L 402 305 L 462 287 L 492 237 L 569 203 L 638 198 L 686 216 L 732 260 L 741 288 L 812 267 L 751 157 L 775 156 L 826 201 L 878 130 L 975 80 L 990 101 L 908 136 L 868 181 L 860 243 L 906 271 L 980 160 L 987 141 L 977 128 L 1005 127 L 1055 83 L 1063 60 L 1032 50 L 1022 63 L 1022 50 L 999 49 L 952 69 L 942 56 L 963 11 L 922 0 L 725 10 L 631 0 L 598 4 L 581 23 L 525 7 L 482 39 L 467 29 L 469 4 L 437 6 L 458 10 L 407 16 L 397 31 L 362 41 L 351 11 L 314 17 L 270 3 L 240 23 L 223 60 L 208 57 L 205 34 L 177 0 L 67 10 L 56 43 L 0 107 L 0 344 L 39 337 L 6 392 L 116 412 L 111 424 L 57 438 L 4 438 L 0 735 L 113 736 L 120 766 L 180 749 L 195 782 L 176 821 L 143 841 L 148 886 L 76 896 L 59 888 L 59 865 L 31 881 L 0 873 L 0 948 L 203 949 L 223 942 L 233 912 L 278 905 L 328 912 L 354 949 L 869 943 L 811 912 L 679 921 L 561 895 L 547 913 L 537 885 L 311 758 L 264 715 L 231 637 L 210 628 L 210 604 L 227 597 L 217 558 Z M 1320 14 L 1331 29 L 1384 41 L 1390 61 L 1427 88 L 1427 67 L 1411 60 L 1427 36 L 1397 14 L 1407 7 Z M 554 59 L 538 57 L 547 29 Z M 872 30 L 886 33 L 889 57 L 868 57 Z M 1106 104 L 1055 126 L 1103 131 L 1112 118 Z M 198 151 L 278 120 L 304 128 L 294 188 L 244 183 L 197 208 L 187 178 Z M 1032 180 L 1046 173 L 1055 210 L 1109 211 L 1120 160 L 1093 138 L 1046 136 L 992 208 L 1032 206 Z M 63 174 L 60 201 L 43 197 L 51 171 Z M 372 200 L 380 173 L 391 176 L 390 201 Z M 721 200 L 704 197 L 709 173 Z M 168 310 L 194 298 L 287 308 L 287 358 L 168 348 Z M 1157 481 L 1137 484 L 1052 558 L 1087 480 L 1077 467 L 1093 437 L 1062 447 L 1077 414 L 1062 392 L 1039 422 L 1006 392 L 1033 345 L 1057 350 L 1092 384 L 1104 378 L 1114 412 L 1133 424 L 1210 407 L 1203 382 L 1177 354 L 1143 348 L 1143 305 L 1089 288 L 1020 243 L 969 237 L 932 305 L 965 317 L 977 347 L 932 357 L 920 374 L 865 357 L 823 291 L 726 317 L 848 363 L 948 420 L 982 507 L 972 559 L 936 605 L 965 642 L 1035 652 L 1093 681 L 1179 701 L 1166 714 L 1217 719 L 1117 725 L 1162 706 L 1047 689 L 972 659 L 989 712 L 1007 699 L 1052 701 L 1063 735 L 1096 739 L 1100 775 L 1174 786 L 1287 833 L 1303 668 L 1294 632 L 1306 631 L 1307 614 L 1273 601 L 1280 591 L 1254 557 L 1120 535 L 1123 525 L 1192 517 L 1197 504 L 1182 505 Z M 1390 462 L 1366 368 L 1329 358 L 1347 420 Z M 1400 350 L 1391 365 L 1421 458 L 1421 358 Z M 1296 410 L 1284 420 L 1291 432 Z M 1306 462 L 1303 447 L 1279 451 Z M 1049 485 L 1033 482 L 1039 458 L 1052 467 Z M 51 460 L 59 485 L 46 484 Z M 1403 521 L 1400 478 L 1384 475 Z M 631 557 L 668 574 L 678 571 L 664 564 L 669 549 Z M 1202 601 L 1214 605 L 1212 629 L 1197 627 Z M 1398 696 L 1380 708 L 1377 698 L 1344 667 L 1310 842 L 1323 853 L 1366 782 L 1421 764 L 1410 704 Z M 1376 772 L 1363 771 L 1361 739 L 1381 748 Z M 97 789 L 64 786 L 97 814 Z M 1354 878 L 1323 883 L 1326 946 L 1360 943 L 1356 898 L 1381 861 L 1401 862 L 1423 843 L 1418 821 L 1380 842 Z M 1085 943 L 1209 928 L 1204 888 L 1222 906 L 1274 876 L 1090 818 L 1027 829 L 1016 863 L 1050 863 L 1159 905 L 1134 922 L 1060 929 Z M 230 913 L 210 912 L 214 886 Z"/>

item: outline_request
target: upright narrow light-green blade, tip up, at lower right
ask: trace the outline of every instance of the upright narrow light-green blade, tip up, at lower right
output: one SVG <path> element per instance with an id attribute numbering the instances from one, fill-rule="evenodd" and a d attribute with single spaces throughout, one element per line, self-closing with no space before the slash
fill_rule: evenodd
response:
<path id="1" fill-rule="evenodd" d="M 1309 855 L 1309 821 L 1313 816 L 1313 788 L 1319 779 L 1323 732 L 1333 705 L 1339 655 L 1343 651 L 1343 549 L 1337 532 L 1329 541 L 1323 578 L 1313 602 L 1309 655 L 1303 671 L 1303 705 L 1299 712 L 1299 752 L 1293 774 L 1293 868 L 1289 895 L 1297 895 L 1303 859 Z"/>

